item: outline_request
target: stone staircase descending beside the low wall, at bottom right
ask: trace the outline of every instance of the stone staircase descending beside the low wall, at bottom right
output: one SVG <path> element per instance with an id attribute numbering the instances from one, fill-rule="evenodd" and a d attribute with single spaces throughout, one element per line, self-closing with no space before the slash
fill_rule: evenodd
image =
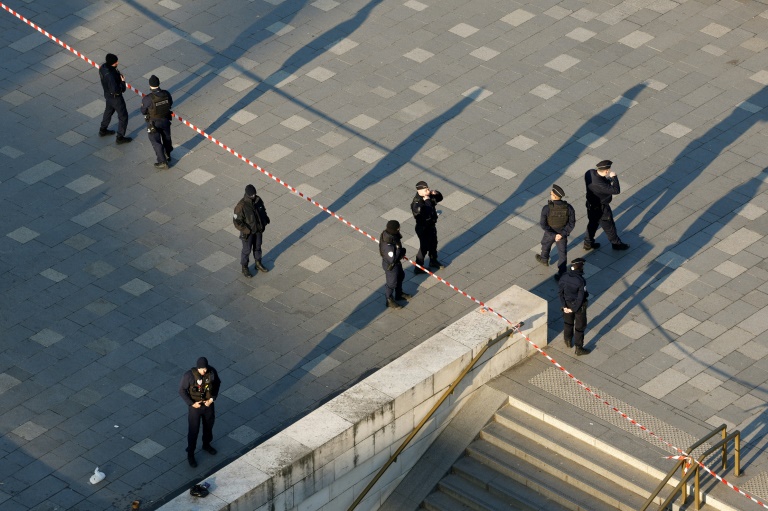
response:
<path id="1" fill-rule="evenodd" d="M 513 399 L 510 399 L 514 402 Z M 578 431 L 510 404 L 499 409 L 421 504 L 429 511 L 639 510 L 658 474 Z M 649 472 L 654 472 L 653 470 Z M 662 492 L 666 498 L 672 486 Z M 678 498 L 679 502 L 679 498 Z M 649 509 L 658 509 L 661 498 Z M 689 497 L 686 507 L 693 509 Z M 731 509 L 703 505 L 702 510 Z"/>

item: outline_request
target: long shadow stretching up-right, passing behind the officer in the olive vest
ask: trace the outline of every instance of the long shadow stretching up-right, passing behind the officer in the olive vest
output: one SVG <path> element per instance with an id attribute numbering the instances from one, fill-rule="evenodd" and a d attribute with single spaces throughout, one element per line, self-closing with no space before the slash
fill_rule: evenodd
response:
<path id="1" fill-rule="evenodd" d="M 441 253 L 448 254 L 449 257 L 455 259 L 468 247 L 471 247 L 476 240 L 491 233 L 496 227 L 506 221 L 510 214 L 519 211 L 519 208 L 525 202 L 525 200 L 520 200 L 521 193 L 525 193 L 525 198 L 527 198 L 542 194 L 548 190 L 557 177 L 581 157 L 590 143 L 607 135 L 619 123 L 622 116 L 629 110 L 631 102 L 646 87 L 645 83 L 639 83 L 631 87 L 622 94 L 624 99 L 593 115 L 549 158 L 528 173 L 517 188 L 512 190 L 498 207 L 482 217 L 474 226 L 469 227 L 459 236 L 443 245 L 440 250 Z"/>

